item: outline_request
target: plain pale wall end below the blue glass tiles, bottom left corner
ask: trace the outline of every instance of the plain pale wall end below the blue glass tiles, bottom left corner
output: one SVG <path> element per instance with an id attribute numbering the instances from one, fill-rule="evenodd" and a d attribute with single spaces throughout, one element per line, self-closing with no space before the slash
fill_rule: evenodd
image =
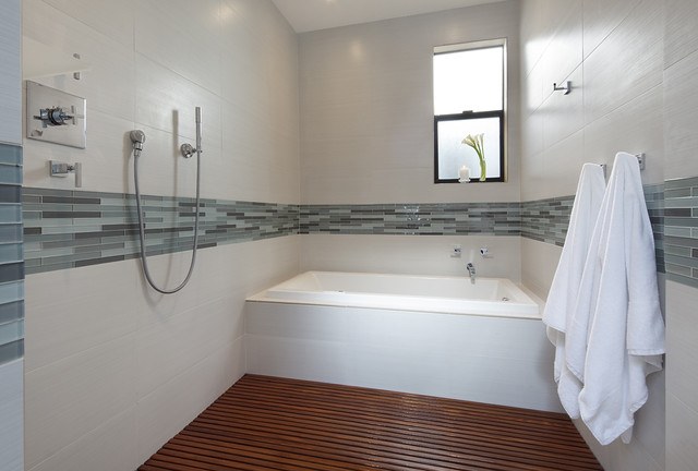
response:
<path id="1" fill-rule="evenodd" d="M 0 365 L 0 466 L 24 470 L 24 361 Z"/>

